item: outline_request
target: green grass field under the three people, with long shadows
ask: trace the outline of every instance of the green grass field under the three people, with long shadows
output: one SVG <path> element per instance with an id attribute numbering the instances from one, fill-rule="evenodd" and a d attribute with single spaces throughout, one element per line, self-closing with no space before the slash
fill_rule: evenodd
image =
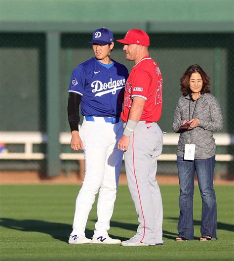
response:
<path id="1" fill-rule="evenodd" d="M 176 242 L 177 185 L 163 185 L 163 246 L 69 245 L 77 185 L 0 186 L 0 261 L 168 261 L 234 260 L 234 187 L 216 186 L 218 240 L 199 242 L 201 200 L 195 188 L 195 240 Z M 92 237 L 96 203 L 86 236 Z M 135 234 L 137 216 L 126 185 L 118 188 L 109 234 L 126 240 Z"/>

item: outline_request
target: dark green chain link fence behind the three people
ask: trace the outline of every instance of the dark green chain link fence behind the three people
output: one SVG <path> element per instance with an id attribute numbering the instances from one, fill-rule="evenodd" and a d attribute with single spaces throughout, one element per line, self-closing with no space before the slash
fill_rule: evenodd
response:
<path id="1" fill-rule="evenodd" d="M 111 29 L 111 28 L 110 28 Z M 124 34 L 115 34 L 121 39 Z M 180 78 L 186 68 L 199 64 L 211 78 L 211 93 L 219 100 L 225 127 L 234 129 L 234 34 L 150 34 L 150 55 L 163 76 L 163 111 L 159 126 L 172 132 L 174 110 L 180 92 Z M 91 34 L 61 34 L 61 132 L 70 132 L 67 121 L 68 85 L 73 69 L 93 56 L 87 44 Z M 39 131 L 46 133 L 46 51 L 45 34 L 0 34 L 0 131 Z M 129 72 L 133 63 L 125 60 L 122 44 L 116 42 L 112 58 Z M 82 118 L 82 117 L 81 117 Z M 98 133 L 97 133 L 98 135 Z M 1 141 L 0 141 L 1 142 Z M 21 152 L 22 145 L 1 144 L 8 151 Z M 34 151 L 46 153 L 46 145 L 34 145 Z M 69 145 L 62 152 L 71 152 Z M 176 153 L 176 146 L 164 146 L 163 153 Z M 233 146 L 218 146 L 217 153 L 234 154 Z M 45 160 L 0 160 L 0 170 L 41 170 Z M 78 170 L 74 161 L 62 161 L 61 171 Z M 122 169 L 124 171 L 124 168 Z M 233 162 L 219 162 L 216 173 L 230 175 Z M 160 174 L 177 174 L 175 162 L 158 164 Z"/>

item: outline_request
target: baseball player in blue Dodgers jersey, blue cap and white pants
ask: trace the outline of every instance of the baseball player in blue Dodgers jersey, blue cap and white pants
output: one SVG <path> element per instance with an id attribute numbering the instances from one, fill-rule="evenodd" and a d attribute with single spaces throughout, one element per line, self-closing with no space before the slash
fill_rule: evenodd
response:
<path id="1" fill-rule="evenodd" d="M 120 121 L 127 68 L 110 58 L 113 33 L 100 28 L 93 32 L 95 57 L 81 63 L 69 85 L 68 121 L 74 150 L 83 150 L 85 176 L 76 200 L 70 244 L 120 244 L 108 235 L 116 200 L 123 152 L 117 149 L 123 128 Z M 84 116 L 80 129 L 79 107 Z M 99 193 L 92 240 L 85 237 L 89 212 Z"/>

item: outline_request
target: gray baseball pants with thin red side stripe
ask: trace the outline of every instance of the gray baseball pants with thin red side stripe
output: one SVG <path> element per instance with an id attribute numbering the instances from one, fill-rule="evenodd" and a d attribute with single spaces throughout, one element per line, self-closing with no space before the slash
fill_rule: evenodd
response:
<path id="1" fill-rule="evenodd" d="M 140 121 L 124 153 L 128 187 L 140 222 L 136 237 L 149 245 L 163 243 L 162 199 L 156 181 L 162 143 L 163 134 L 157 123 Z"/>

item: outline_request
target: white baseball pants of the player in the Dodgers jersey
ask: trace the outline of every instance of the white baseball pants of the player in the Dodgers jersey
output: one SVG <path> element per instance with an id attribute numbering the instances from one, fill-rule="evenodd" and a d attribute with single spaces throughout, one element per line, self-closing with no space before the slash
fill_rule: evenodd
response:
<path id="1" fill-rule="evenodd" d="M 83 120 L 79 130 L 83 142 L 85 176 L 76 200 L 76 210 L 71 235 L 84 235 L 88 215 L 99 192 L 95 234 L 105 235 L 110 229 L 114 211 L 118 178 L 122 163 L 122 151 L 117 149 L 122 136 L 122 122 L 107 123 L 101 117 L 94 122 Z"/>

